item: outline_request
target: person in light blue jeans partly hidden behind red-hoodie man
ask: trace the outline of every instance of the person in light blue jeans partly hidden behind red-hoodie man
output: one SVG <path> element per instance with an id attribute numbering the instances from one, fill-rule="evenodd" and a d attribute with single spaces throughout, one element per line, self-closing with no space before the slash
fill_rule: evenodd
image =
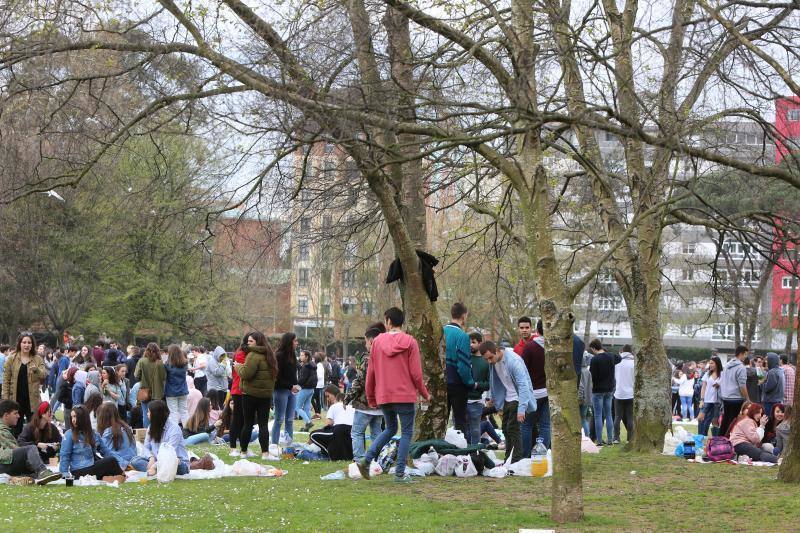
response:
<path id="1" fill-rule="evenodd" d="M 376 322 L 364 332 L 364 343 L 367 346 L 367 353 L 361 358 L 361 366 L 356 372 L 355 378 L 350 383 L 350 390 L 344 399 L 345 405 L 352 405 L 355 409 L 353 414 L 353 427 L 350 429 L 350 438 L 353 441 L 353 459 L 358 461 L 366 454 L 366 430 L 369 427 L 369 434 L 374 441 L 381 433 L 381 423 L 383 422 L 383 412 L 380 409 L 372 409 L 367 400 L 367 371 L 369 368 L 369 353 L 372 350 L 372 343 L 381 333 L 386 333 L 386 326 L 382 322 Z"/>

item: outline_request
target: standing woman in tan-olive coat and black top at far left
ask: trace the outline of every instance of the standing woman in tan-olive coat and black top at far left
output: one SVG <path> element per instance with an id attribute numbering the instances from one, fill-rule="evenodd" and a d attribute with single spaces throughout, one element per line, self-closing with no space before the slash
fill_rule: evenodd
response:
<path id="1" fill-rule="evenodd" d="M 6 358 L 3 374 L 3 399 L 19 404 L 19 418 L 14 436 L 22 433 L 25 422 L 30 422 L 33 412 L 42 403 L 42 384 L 47 379 L 44 361 L 36 355 L 36 339 L 25 332 L 17 337 L 14 352 Z"/>

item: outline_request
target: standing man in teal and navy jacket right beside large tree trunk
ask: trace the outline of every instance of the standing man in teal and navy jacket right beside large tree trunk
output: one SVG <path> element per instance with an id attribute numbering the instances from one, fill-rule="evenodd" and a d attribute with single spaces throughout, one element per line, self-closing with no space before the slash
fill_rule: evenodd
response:
<path id="1" fill-rule="evenodd" d="M 445 369 L 447 375 L 447 410 L 453 413 L 457 430 L 467 434 L 467 394 L 475 389 L 472 377 L 472 353 L 467 324 L 467 307 L 454 303 L 450 308 L 452 321 L 444 326 Z"/>

